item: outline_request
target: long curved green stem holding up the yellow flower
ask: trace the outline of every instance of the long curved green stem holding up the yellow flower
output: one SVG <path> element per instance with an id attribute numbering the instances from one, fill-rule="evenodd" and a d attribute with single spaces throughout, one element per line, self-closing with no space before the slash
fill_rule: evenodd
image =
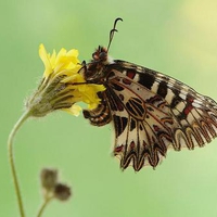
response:
<path id="1" fill-rule="evenodd" d="M 20 214 L 21 217 L 25 217 L 24 214 L 24 207 L 23 207 L 23 202 L 22 202 L 22 195 L 21 195 L 21 189 L 18 186 L 18 179 L 16 175 L 16 169 L 15 169 L 15 163 L 14 163 L 14 154 L 13 154 L 13 139 L 15 137 L 15 133 L 22 126 L 22 124 L 30 116 L 30 112 L 26 111 L 21 118 L 17 120 L 17 123 L 14 125 L 8 140 L 8 149 L 9 149 L 9 163 L 11 166 L 11 171 L 12 171 L 12 177 L 13 177 L 13 182 L 14 182 L 14 188 L 15 188 L 15 193 L 17 197 L 17 203 L 18 203 L 18 208 L 20 208 Z"/>

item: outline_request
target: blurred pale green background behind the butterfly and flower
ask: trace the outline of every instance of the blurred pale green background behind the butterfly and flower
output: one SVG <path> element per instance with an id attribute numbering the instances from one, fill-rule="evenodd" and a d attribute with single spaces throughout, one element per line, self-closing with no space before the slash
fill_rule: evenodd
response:
<path id="1" fill-rule="evenodd" d="M 7 138 L 23 102 L 43 73 L 39 43 L 48 51 L 77 48 L 89 61 L 107 44 L 111 55 L 163 73 L 217 100 L 216 0 L 17 0 L 0 2 L 1 124 L 0 216 L 18 216 L 8 164 Z M 39 171 L 61 170 L 73 188 L 67 203 L 53 201 L 44 217 L 216 217 L 217 140 L 193 152 L 169 151 L 155 170 L 124 173 L 111 157 L 111 126 L 97 128 L 82 116 L 56 112 L 23 126 L 15 162 L 27 216 L 41 204 Z"/>

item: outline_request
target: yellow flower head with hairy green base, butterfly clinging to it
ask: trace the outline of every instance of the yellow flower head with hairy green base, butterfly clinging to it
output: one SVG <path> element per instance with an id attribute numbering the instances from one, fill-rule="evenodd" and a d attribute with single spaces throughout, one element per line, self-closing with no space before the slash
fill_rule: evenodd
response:
<path id="1" fill-rule="evenodd" d="M 26 103 L 31 116 L 44 116 L 55 110 L 77 116 L 81 107 L 75 103 L 85 102 L 90 110 L 100 103 L 97 92 L 104 91 L 105 88 L 103 85 L 87 84 L 79 74 L 81 64 L 77 50 L 67 52 L 61 49 L 58 54 L 55 51 L 50 54 L 40 44 L 39 55 L 46 69 L 37 91 Z"/>

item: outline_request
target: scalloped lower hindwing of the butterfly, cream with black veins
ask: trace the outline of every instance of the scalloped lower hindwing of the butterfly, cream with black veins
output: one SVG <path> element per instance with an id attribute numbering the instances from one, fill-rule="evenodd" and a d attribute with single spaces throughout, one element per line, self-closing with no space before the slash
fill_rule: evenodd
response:
<path id="1" fill-rule="evenodd" d="M 170 128 L 176 123 L 168 115 L 168 105 L 119 71 L 112 72 L 105 92 L 116 136 L 114 154 L 120 156 L 123 168 L 129 164 L 136 170 L 144 164 L 155 167 L 173 142 Z"/>

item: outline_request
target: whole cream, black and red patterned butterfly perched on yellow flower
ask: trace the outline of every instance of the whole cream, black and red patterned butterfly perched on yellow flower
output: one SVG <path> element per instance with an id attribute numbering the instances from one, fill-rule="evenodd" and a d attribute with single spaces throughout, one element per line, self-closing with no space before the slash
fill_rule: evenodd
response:
<path id="1" fill-rule="evenodd" d="M 193 150 L 210 142 L 217 137 L 217 103 L 167 75 L 113 60 L 108 48 L 118 21 L 107 48 L 100 46 L 82 69 L 87 82 L 106 88 L 98 107 L 84 110 L 84 116 L 94 126 L 113 124 L 113 154 L 120 167 L 155 168 L 170 148 Z"/>

